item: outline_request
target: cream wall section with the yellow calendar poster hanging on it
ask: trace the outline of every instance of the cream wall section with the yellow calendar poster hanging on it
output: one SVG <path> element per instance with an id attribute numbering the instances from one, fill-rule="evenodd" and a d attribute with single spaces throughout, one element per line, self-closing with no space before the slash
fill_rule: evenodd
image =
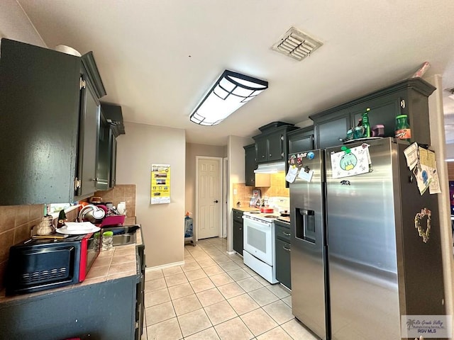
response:
<path id="1" fill-rule="evenodd" d="M 116 183 L 135 184 L 148 267 L 184 261 L 186 137 L 182 129 L 125 123 L 117 138 Z M 151 164 L 170 164 L 170 203 L 150 204 Z"/>

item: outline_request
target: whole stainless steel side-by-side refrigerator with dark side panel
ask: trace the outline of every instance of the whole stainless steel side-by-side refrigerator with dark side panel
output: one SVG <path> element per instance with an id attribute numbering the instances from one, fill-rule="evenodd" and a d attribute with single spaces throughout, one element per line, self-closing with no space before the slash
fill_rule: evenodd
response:
<path id="1" fill-rule="evenodd" d="M 348 145 L 361 146 L 362 142 Z M 408 145 L 367 140 L 370 169 L 333 178 L 331 154 L 289 155 L 292 312 L 321 339 L 401 339 L 401 315 L 445 314 L 437 195 L 421 195 Z M 427 243 L 414 219 L 431 210 Z"/>

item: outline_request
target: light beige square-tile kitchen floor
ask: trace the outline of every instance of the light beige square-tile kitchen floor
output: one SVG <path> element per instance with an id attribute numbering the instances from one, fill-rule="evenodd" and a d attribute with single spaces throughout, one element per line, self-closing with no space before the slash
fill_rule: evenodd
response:
<path id="1" fill-rule="evenodd" d="M 226 239 L 184 247 L 184 266 L 145 274 L 143 340 L 315 340 L 292 297 L 226 253 Z"/>

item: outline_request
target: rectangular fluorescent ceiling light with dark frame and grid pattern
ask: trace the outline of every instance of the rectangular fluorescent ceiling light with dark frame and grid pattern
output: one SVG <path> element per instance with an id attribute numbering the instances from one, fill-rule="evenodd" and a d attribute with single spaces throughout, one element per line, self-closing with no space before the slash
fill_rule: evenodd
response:
<path id="1" fill-rule="evenodd" d="M 267 88 L 267 81 L 226 69 L 189 119 L 199 125 L 217 125 Z"/>

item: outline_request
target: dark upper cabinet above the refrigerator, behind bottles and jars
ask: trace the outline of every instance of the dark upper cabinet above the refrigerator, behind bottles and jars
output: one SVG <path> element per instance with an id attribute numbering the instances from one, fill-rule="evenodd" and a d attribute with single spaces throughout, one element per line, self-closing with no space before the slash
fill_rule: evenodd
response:
<path id="1" fill-rule="evenodd" d="M 394 137 L 397 115 L 407 115 L 411 126 L 411 142 L 431 144 L 428 96 L 436 88 L 421 78 L 400 81 L 385 89 L 372 92 L 316 115 L 314 139 L 316 148 L 342 144 L 347 130 L 358 124 L 361 114 L 370 108 L 369 120 L 373 127 L 384 125 L 384 137 Z"/>

